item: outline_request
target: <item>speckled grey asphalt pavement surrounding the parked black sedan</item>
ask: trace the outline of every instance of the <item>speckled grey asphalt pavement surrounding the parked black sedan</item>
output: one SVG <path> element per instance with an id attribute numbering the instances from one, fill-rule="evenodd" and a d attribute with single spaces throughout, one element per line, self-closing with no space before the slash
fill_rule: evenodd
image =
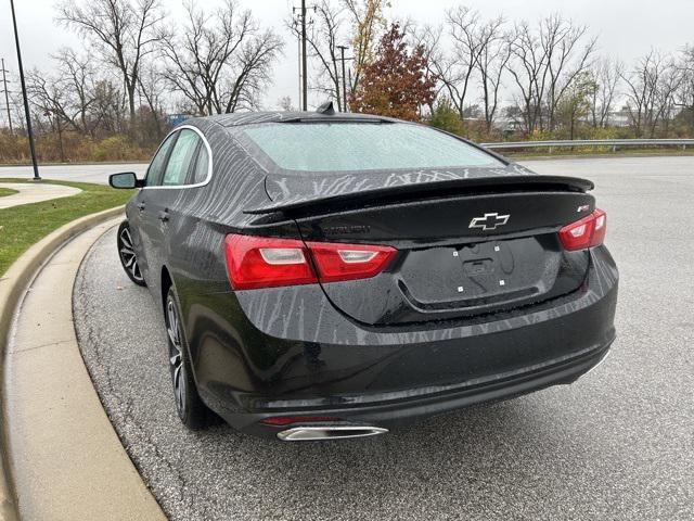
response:
<path id="1" fill-rule="evenodd" d="M 97 242 L 74 293 L 102 402 L 164 510 L 193 519 L 694 518 L 694 157 L 526 163 L 595 181 L 620 268 L 609 358 L 570 386 L 374 439 L 188 432 L 162 314 Z"/>

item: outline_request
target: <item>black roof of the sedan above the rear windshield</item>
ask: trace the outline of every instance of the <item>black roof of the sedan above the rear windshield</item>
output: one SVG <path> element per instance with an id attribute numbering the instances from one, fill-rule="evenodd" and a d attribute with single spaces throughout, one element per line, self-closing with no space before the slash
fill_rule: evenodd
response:
<path id="1" fill-rule="evenodd" d="M 235 112 L 232 114 L 217 114 L 214 116 L 195 117 L 187 120 L 184 124 L 195 122 L 210 122 L 221 125 L 222 127 L 239 127 L 243 125 L 253 125 L 258 123 L 282 123 L 282 122 L 389 122 L 395 123 L 399 119 L 385 116 L 374 116 L 372 114 L 355 114 L 349 112 L 337 112 L 334 114 L 321 114 L 319 112 L 299 112 L 299 111 L 268 111 L 268 112 Z"/>

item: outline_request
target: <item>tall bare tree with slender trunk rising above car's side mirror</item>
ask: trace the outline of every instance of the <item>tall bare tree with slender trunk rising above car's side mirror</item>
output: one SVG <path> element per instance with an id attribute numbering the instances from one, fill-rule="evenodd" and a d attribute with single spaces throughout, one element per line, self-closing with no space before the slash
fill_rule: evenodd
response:
<path id="1" fill-rule="evenodd" d="M 159 0 L 65 0 L 59 13 L 119 72 L 132 125 L 142 60 L 155 50 L 155 29 L 164 17 Z"/>

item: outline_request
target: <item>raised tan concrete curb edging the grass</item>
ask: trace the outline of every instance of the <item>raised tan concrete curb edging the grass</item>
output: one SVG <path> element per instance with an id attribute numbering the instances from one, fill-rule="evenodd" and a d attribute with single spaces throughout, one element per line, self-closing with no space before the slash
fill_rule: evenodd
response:
<path id="1" fill-rule="evenodd" d="M 7 422 L 8 402 L 4 397 L 5 387 L 5 356 L 10 343 L 10 334 L 13 327 L 14 313 L 22 302 L 26 288 L 31 283 L 43 264 L 57 252 L 63 244 L 72 238 L 89 230 L 90 228 L 114 219 L 121 215 L 123 206 L 88 215 L 62 226 L 41 241 L 34 244 L 26 251 L 0 278 L 0 369 L 2 370 L 2 415 L 0 416 L 0 448 L 2 449 L 2 472 L 0 472 L 0 521 L 15 521 L 18 519 L 16 495 L 12 473 L 9 472 L 9 458 L 5 448 L 8 447 Z M 72 302 L 72 298 L 70 298 Z M 72 307 L 70 307 L 72 313 Z"/>

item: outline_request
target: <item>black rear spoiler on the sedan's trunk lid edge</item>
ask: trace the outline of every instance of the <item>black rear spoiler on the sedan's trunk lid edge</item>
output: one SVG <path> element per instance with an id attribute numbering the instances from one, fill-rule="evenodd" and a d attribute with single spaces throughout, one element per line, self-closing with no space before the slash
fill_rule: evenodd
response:
<path id="1" fill-rule="evenodd" d="M 444 192 L 451 195 L 451 190 L 457 194 L 465 194 L 466 191 L 479 192 L 484 189 L 504 188 L 507 190 L 541 190 L 541 191 L 571 191 L 588 192 L 594 188 L 592 181 L 578 177 L 564 176 L 499 176 L 478 177 L 467 179 L 450 179 L 437 182 L 400 185 L 395 187 L 382 187 L 362 190 L 359 192 L 345 192 L 338 194 L 290 198 L 282 201 L 270 202 L 266 206 L 244 209 L 244 214 L 264 215 L 275 212 L 307 211 L 327 205 L 343 205 L 354 203 L 370 203 L 387 199 L 408 198 L 412 195 L 435 195 Z"/>

